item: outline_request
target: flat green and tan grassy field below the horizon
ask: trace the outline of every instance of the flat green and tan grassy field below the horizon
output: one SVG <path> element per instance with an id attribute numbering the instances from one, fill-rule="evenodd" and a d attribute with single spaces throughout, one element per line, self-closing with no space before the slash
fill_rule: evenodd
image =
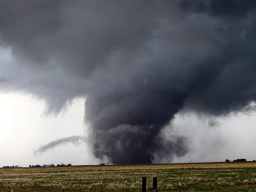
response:
<path id="1" fill-rule="evenodd" d="M 0 169 L 0 191 L 256 191 L 256 162 L 72 166 Z"/>

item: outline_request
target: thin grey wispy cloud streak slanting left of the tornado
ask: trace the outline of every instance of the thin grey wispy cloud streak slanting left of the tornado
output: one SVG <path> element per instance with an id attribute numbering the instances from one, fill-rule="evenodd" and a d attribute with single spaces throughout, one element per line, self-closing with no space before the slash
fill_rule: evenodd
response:
<path id="1" fill-rule="evenodd" d="M 51 141 L 47 144 L 44 144 L 42 147 L 36 149 L 34 151 L 34 155 L 42 154 L 49 149 L 58 147 L 60 145 L 68 144 L 68 143 L 73 143 L 75 145 L 81 144 L 81 142 L 86 142 L 86 137 L 82 135 L 73 135 L 70 137 L 64 137 L 64 138 L 59 138 L 58 140 Z"/>

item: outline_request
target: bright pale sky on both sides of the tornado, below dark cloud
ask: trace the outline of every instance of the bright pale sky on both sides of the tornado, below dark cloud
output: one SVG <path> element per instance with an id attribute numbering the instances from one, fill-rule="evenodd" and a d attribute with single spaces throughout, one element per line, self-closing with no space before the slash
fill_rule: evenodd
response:
<path id="1" fill-rule="evenodd" d="M 0 166 L 30 164 L 97 164 L 86 142 L 58 145 L 43 153 L 35 154 L 42 145 L 71 135 L 87 135 L 83 118 L 84 98 L 75 99 L 60 114 L 45 113 L 45 102 L 22 92 L 0 94 L 1 135 Z M 213 121 L 216 125 L 209 125 Z M 182 135 L 189 138 L 189 153 L 169 160 L 161 157 L 157 163 L 213 162 L 237 158 L 256 159 L 252 147 L 256 137 L 256 113 L 233 114 L 207 119 L 195 114 L 178 114 L 163 133 L 172 138 Z M 171 131 L 170 131 L 171 130 Z M 211 151 L 211 153 L 209 153 Z M 67 155 L 68 154 L 68 155 Z"/>

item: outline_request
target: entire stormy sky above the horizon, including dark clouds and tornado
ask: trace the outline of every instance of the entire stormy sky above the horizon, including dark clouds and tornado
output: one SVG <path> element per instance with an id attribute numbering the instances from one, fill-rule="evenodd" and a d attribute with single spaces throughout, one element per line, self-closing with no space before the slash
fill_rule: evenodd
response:
<path id="1" fill-rule="evenodd" d="M 0 165 L 253 160 L 255 14 L 253 0 L 1 1 Z"/>

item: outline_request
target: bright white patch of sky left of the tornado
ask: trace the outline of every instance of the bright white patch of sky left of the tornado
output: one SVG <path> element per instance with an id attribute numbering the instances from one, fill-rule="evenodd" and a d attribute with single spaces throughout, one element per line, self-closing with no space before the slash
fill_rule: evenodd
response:
<path id="1" fill-rule="evenodd" d="M 1 93 L 0 166 L 30 164 L 96 164 L 84 142 L 67 143 L 49 151 L 35 154 L 42 145 L 58 138 L 85 135 L 83 123 L 84 99 L 58 115 L 45 114 L 45 102 L 21 92 Z M 68 155 L 67 155 L 68 153 Z"/>

